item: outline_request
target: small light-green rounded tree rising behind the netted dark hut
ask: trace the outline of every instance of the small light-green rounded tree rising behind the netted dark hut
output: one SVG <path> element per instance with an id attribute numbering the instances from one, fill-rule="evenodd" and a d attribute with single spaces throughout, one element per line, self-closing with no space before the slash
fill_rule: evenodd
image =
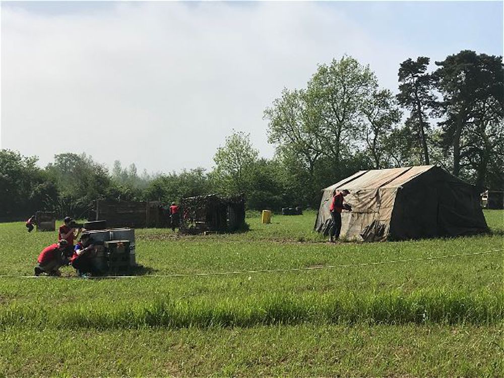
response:
<path id="1" fill-rule="evenodd" d="M 212 176 L 221 183 L 224 193 L 246 193 L 250 173 L 257 161 L 259 151 L 250 143 L 250 135 L 233 132 L 226 137 L 224 147 L 219 147 L 214 156 L 216 167 Z"/>

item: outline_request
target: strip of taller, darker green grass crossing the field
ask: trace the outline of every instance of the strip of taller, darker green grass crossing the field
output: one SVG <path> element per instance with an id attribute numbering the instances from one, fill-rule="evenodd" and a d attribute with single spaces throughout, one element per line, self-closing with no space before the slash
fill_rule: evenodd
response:
<path id="1" fill-rule="evenodd" d="M 268 295 L 219 302 L 171 300 L 102 302 L 51 307 L 11 304 L 0 327 L 136 329 L 143 327 L 255 327 L 313 324 L 496 324 L 504 319 L 504 293 L 417 290 L 333 295 Z"/>

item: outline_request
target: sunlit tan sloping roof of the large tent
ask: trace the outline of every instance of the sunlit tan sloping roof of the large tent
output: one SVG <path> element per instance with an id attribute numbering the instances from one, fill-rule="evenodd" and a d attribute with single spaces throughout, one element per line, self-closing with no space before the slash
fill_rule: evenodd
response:
<path id="1" fill-rule="evenodd" d="M 326 187 L 324 190 L 348 189 L 351 192 L 352 190 L 365 188 L 399 187 L 433 167 L 435 165 L 358 171 L 352 176 Z"/>

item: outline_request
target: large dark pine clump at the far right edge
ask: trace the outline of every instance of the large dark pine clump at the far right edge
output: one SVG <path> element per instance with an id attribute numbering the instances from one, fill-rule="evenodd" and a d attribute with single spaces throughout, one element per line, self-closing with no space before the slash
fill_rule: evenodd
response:
<path id="1" fill-rule="evenodd" d="M 502 57 L 463 50 L 436 65 L 434 77 L 443 95 L 442 145 L 453 154 L 453 174 L 471 177 L 475 172 L 476 183 L 483 185 L 489 168 L 502 168 L 495 167 L 502 161 Z"/>

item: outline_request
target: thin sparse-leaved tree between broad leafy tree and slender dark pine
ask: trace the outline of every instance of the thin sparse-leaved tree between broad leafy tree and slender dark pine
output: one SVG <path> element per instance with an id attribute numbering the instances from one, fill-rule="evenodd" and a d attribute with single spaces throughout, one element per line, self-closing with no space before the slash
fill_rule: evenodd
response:
<path id="1" fill-rule="evenodd" d="M 362 106 L 360 135 L 374 169 L 388 167 L 394 151 L 387 149 L 394 125 L 401 119 L 396 100 L 388 89 L 374 90 Z"/>

